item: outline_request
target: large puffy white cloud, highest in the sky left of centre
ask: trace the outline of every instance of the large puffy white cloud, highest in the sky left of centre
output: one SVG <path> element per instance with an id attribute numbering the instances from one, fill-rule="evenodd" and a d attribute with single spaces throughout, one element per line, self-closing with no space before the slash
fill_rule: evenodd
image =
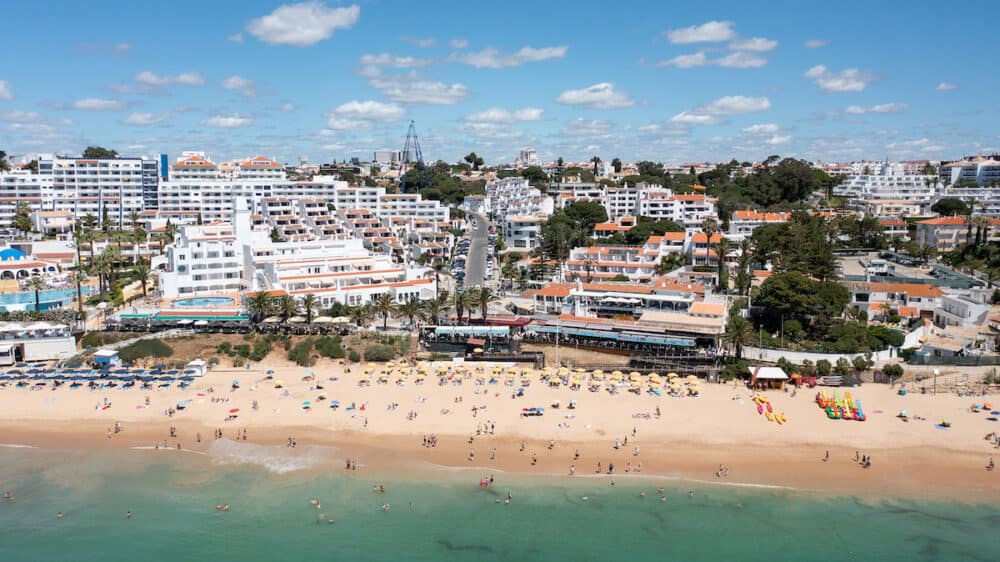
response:
<path id="1" fill-rule="evenodd" d="M 308 47 L 329 39 L 337 29 L 349 29 L 361 17 L 361 8 L 329 8 L 313 0 L 283 4 L 266 16 L 250 20 L 247 31 L 269 45 Z"/>

